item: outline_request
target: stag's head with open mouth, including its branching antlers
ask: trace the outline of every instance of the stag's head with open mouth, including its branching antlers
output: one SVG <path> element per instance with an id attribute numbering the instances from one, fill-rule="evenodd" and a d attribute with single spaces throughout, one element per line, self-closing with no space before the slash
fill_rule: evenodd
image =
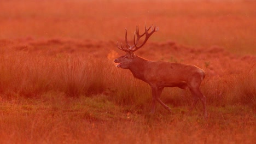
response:
<path id="1" fill-rule="evenodd" d="M 150 29 L 151 29 L 151 32 L 148 33 Z M 159 28 L 155 27 L 155 26 L 154 26 L 154 28 L 153 28 L 153 26 L 150 26 L 149 28 L 147 28 L 145 26 L 145 32 L 143 34 L 139 34 L 138 25 L 137 25 L 136 26 L 136 31 L 134 32 L 134 35 L 133 35 L 133 45 L 130 45 L 127 41 L 127 29 L 125 28 L 125 46 L 123 46 L 123 44 L 121 43 L 121 45 L 119 47 L 118 42 L 117 42 L 117 47 L 118 47 L 118 49 L 120 49 L 122 51 L 125 51 L 126 54 L 124 56 L 121 56 L 119 58 L 114 59 L 115 63 L 119 63 L 115 66 L 118 67 L 118 68 L 129 69 L 130 64 L 132 63 L 133 59 L 136 57 L 136 55 L 133 52 L 137 51 L 144 44 L 146 44 L 149 37 L 154 32 L 156 32 L 158 30 L 159 30 Z M 143 37 L 144 35 L 146 35 L 146 37 L 145 37 L 143 43 L 138 46 L 137 44 L 138 44 L 139 39 L 141 37 Z M 136 38 L 136 40 L 135 40 L 135 38 Z"/>

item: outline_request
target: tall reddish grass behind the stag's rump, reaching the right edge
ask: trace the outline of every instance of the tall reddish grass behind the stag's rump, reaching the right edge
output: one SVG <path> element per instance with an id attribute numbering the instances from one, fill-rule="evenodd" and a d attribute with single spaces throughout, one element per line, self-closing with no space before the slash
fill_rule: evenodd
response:
<path id="1" fill-rule="evenodd" d="M 249 67 L 245 68 L 249 70 Z M 253 72 L 252 72 L 253 71 Z M 223 77 L 209 77 L 205 80 L 202 89 L 209 105 L 251 105 L 255 109 L 255 70 L 251 73 L 226 75 Z"/>

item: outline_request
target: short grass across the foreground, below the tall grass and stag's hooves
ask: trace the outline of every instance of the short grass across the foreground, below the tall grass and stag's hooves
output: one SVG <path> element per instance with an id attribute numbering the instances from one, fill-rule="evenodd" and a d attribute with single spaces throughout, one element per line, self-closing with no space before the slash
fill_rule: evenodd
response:
<path id="1" fill-rule="evenodd" d="M 155 115 L 137 113 L 106 95 L 46 100 L 2 101 L 3 143 L 253 143 L 255 111 L 243 105 L 210 106 L 208 120 L 200 107 L 173 113 L 158 106 Z M 147 104 L 146 104 L 147 105 Z"/>

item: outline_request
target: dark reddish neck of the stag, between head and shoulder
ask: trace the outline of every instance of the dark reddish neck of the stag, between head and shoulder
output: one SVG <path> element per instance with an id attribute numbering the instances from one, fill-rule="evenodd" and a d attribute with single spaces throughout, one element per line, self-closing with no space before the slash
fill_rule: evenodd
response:
<path id="1" fill-rule="evenodd" d="M 135 56 L 129 68 L 134 77 L 146 81 L 144 77 L 144 71 L 147 62 L 147 59 Z"/>

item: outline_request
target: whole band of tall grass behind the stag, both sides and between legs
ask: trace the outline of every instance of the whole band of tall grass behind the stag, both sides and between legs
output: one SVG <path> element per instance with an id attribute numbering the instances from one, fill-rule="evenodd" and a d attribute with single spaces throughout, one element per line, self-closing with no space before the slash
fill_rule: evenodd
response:
<path id="1" fill-rule="evenodd" d="M 146 110 L 151 101 L 147 83 L 135 79 L 129 70 L 114 67 L 111 58 L 92 55 L 5 51 L 0 57 L 1 97 L 42 98 L 45 93 L 64 93 L 66 97 L 109 96 L 134 110 Z M 230 68 L 231 75 L 207 76 L 201 89 L 208 105 L 248 104 L 255 108 L 255 65 L 241 70 Z M 206 69 L 207 70 L 207 69 Z M 236 74 L 237 73 L 237 74 Z M 189 105 L 191 94 L 178 88 L 165 88 L 161 99 L 172 106 Z"/>

